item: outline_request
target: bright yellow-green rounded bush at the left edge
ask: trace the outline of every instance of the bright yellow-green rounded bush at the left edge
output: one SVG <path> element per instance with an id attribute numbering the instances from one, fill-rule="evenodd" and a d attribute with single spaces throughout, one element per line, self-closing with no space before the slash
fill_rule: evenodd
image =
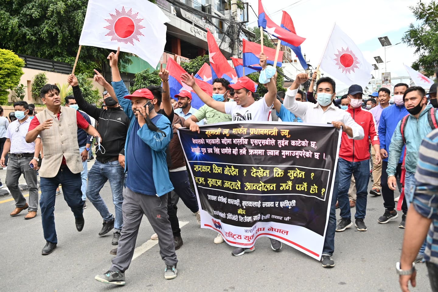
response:
<path id="1" fill-rule="evenodd" d="M 7 103 L 8 90 L 13 90 L 20 83 L 25 61 L 14 52 L 0 49 L 0 104 Z"/>

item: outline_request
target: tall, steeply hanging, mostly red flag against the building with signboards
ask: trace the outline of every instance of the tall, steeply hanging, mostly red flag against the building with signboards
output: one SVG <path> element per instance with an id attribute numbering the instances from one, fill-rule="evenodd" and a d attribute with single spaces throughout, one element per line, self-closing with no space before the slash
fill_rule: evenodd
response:
<path id="1" fill-rule="evenodd" d="M 234 84 L 237 82 L 237 73 L 225 56 L 221 53 L 214 35 L 207 28 L 208 56 L 210 57 L 210 67 L 212 68 L 212 78 L 225 78 Z"/>

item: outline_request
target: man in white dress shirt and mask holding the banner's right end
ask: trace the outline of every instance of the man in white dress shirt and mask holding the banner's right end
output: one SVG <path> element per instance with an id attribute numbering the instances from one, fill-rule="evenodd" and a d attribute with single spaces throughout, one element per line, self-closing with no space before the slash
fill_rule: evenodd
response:
<path id="1" fill-rule="evenodd" d="M 295 100 L 298 87 L 308 79 L 309 76 L 305 73 L 297 75 L 293 84 L 286 91 L 283 105 L 294 115 L 300 116 L 304 123 L 332 123 L 338 129 L 342 127 L 342 130 L 349 139 L 363 139 L 364 129 L 353 120 L 349 113 L 333 104 L 333 99 L 336 96 L 336 84 L 332 78 L 322 77 L 316 82 L 316 98 L 318 103 L 297 102 Z M 324 248 L 322 249 L 321 263 L 323 267 L 335 266 L 332 255 L 335 250 L 336 199 L 337 187 L 335 179 L 329 223 L 325 232 Z"/>

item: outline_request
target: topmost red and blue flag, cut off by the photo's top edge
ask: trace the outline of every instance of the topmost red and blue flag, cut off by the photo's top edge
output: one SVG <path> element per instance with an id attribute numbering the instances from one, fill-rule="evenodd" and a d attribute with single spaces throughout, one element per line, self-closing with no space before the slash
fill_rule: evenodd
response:
<path id="1" fill-rule="evenodd" d="M 258 27 L 262 27 L 263 30 L 268 34 L 276 37 L 277 39 L 281 39 L 284 42 L 290 43 L 293 46 L 300 46 L 305 40 L 295 33 L 276 25 L 275 22 L 272 21 L 265 13 L 263 5 L 261 4 L 261 0 L 258 0 Z"/>

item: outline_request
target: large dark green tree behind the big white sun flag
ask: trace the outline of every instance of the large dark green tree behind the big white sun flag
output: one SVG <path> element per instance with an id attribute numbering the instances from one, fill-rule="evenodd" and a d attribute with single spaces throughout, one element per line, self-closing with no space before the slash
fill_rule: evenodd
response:
<path id="1" fill-rule="evenodd" d="M 87 4 L 88 0 L 0 1 L 0 47 L 73 65 Z M 91 77 L 108 54 L 108 49 L 83 46 L 76 73 Z M 121 70 L 131 63 L 127 56 L 120 53 Z"/>

